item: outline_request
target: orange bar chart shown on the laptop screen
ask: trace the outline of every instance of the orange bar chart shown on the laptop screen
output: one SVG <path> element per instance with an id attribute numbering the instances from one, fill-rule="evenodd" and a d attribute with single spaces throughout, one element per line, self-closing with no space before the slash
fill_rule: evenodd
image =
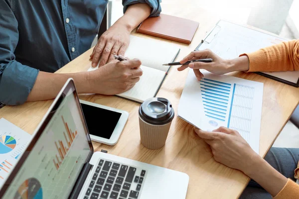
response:
<path id="1" fill-rule="evenodd" d="M 53 163 L 54 163 L 57 170 L 59 169 L 59 166 L 62 164 L 63 160 L 65 159 L 65 157 L 67 155 L 67 152 L 68 152 L 69 148 L 71 147 L 71 145 L 72 145 L 72 143 L 75 140 L 76 135 L 77 135 L 77 131 L 75 131 L 75 133 L 74 133 L 68 127 L 68 124 L 67 124 L 67 122 L 65 122 L 63 116 L 61 116 L 61 118 L 62 118 L 62 122 L 64 124 L 64 127 L 66 129 L 66 131 L 63 131 L 63 135 L 64 135 L 64 138 L 65 138 L 65 143 L 67 144 L 68 147 L 64 146 L 62 140 L 55 141 L 55 146 L 56 146 L 58 154 L 56 154 L 56 156 L 55 156 L 56 160 L 53 159 Z M 65 132 L 67 132 L 67 133 L 65 133 Z"/>

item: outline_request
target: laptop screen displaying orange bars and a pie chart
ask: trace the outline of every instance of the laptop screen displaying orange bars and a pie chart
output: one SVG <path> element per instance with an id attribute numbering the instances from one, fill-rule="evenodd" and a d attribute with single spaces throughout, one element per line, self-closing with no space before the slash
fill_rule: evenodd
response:
<path id="1" fill-rule="evenodd" d="M 3 198 L 64 199 L 69 196 L 92 151 L 72 84 L 70 81 L 69 88 L 41 125 L 42 132 L 35 134 L 32 148 L 29 145 L 23 156 L 29 155 L 8 182 Z"/>

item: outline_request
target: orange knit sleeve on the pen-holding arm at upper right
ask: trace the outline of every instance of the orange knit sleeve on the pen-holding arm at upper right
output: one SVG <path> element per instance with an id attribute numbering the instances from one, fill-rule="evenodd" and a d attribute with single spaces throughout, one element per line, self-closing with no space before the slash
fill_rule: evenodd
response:
<path id="1" fill-rule="evenodd" d="M 299 71 L 299 40 L 282 42 L 245 53 L 249 58 L 248 72 Z"/>

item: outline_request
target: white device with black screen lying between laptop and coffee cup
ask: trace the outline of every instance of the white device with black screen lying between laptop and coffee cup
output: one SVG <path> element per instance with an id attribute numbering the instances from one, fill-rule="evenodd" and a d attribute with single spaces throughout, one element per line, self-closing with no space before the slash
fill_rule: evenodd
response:
<path id="1" fill-rule="evenodd" d="M 127 123 L 129 113 L 124 110 L 80 100 L 90 138 L 115 145 Z"/>

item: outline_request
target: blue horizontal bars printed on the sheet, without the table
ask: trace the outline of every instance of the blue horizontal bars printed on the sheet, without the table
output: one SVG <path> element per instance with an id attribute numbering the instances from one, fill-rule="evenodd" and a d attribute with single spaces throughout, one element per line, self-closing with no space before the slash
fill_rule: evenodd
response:
<path id="1" fill-rule="evenodd" d="M 225 121 L 232 85 L 206 78 L 200 82 L 204 114 L 211 119 Z"/>

